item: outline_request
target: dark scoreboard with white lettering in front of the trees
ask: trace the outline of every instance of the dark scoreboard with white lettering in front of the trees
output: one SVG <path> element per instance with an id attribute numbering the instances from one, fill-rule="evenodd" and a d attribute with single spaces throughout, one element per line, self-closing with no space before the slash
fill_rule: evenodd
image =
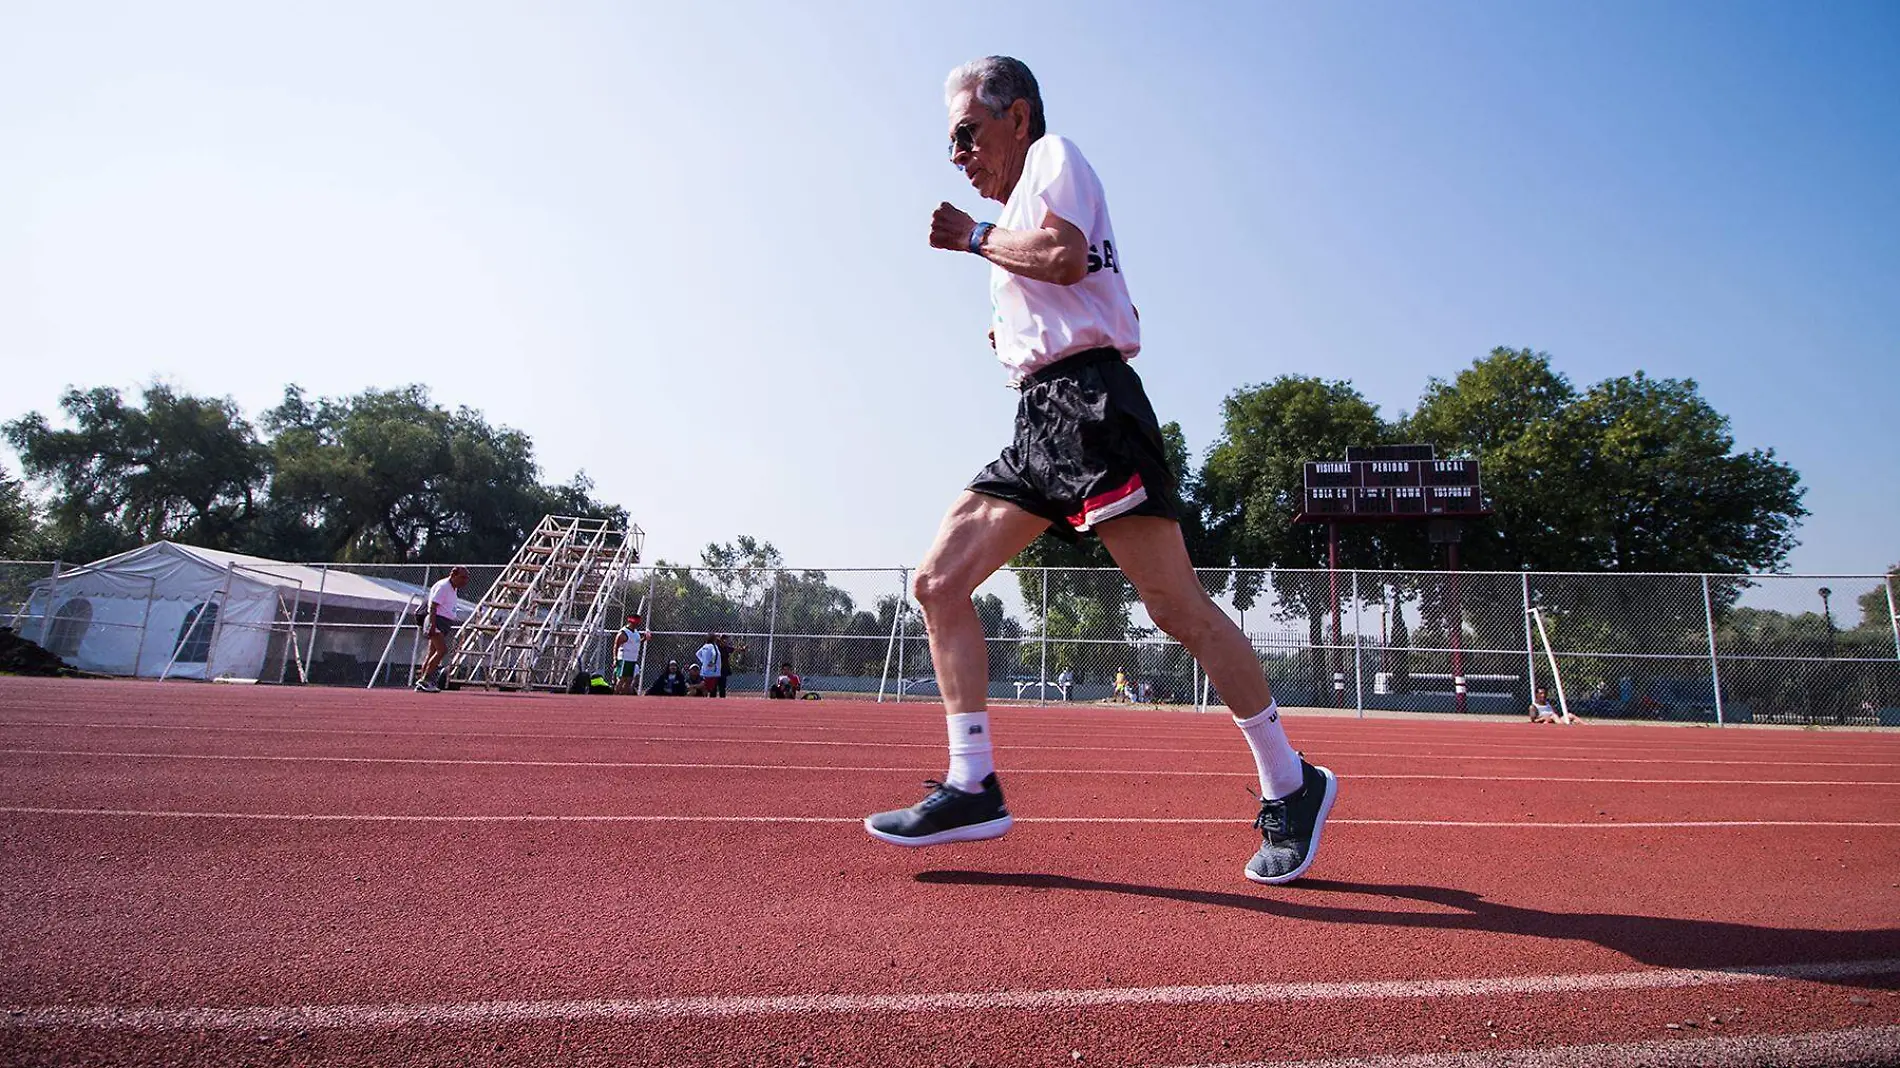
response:
<path id="1" fill-rule="evenodd" d="M 1476 460 L 1434 460 L 1429 445 L 1353 452 L 1372 452 L 1379 458 L 1305 466 L 1303 511 L 1309 517 L 1404 519 L 1488 513 Z M 1421 452 L 1425 458 L 1417 458 Z"/>

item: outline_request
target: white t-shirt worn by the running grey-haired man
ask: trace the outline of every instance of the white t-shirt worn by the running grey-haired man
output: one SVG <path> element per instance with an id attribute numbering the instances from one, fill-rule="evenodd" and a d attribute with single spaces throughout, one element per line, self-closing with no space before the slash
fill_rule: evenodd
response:
<path id="1" fill-rule="evenodd" d="M 1119 348 L 1125 359 L 1142 352 L 1142 325 L 1121 276 L 1121 247 L 1108 224 L 1102 181 L 1072 141 L 1053 133 L 1030 144 L 1022 177 L 996 224 L 1036 230 L 1049 213 L 1089 238 L 1089 274 L 1075 285 L 1056 285 L 990 268 L 996 357 L 1015 382 L 1091 348 Z"/>

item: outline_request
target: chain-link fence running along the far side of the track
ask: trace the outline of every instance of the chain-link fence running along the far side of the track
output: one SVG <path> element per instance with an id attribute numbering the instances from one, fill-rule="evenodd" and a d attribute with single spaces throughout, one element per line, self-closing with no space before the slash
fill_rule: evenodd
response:
<path id="1" fill-rule="evenodd" d="M 502 564 L 467 564 L 473 604 Z M 0 561 L 8 625 L 106 675 L 407 686 L 412 625 L 446 564 L 232 564 L 167 576 Z M 1282 705 L 1524 715 L 1539 688 L 1586 718 L 1900 726 L 1900 576 L 1203 570 Z M 940 696 L 904 568 L 636 566 L 583 665 L 631 612 L 640 682 L 732 648 L 730 694 L 783 671 L 821 694 Z M 1005 568 L 977 591 L 996 701 L 1216 707 L 1199 663 L 1115 570 Z"/>

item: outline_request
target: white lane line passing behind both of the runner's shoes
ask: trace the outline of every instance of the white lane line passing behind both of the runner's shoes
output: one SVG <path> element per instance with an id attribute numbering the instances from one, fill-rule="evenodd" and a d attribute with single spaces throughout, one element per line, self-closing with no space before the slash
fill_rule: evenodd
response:
<path id="1" fill-rule="evenodd" d="M 91 815 L 106 819 L 255 819 L 289 823 L 849 823 L 857 815 L 671 815 L 671 813 L 380 813 L 380 811 L 186 811 L 148 808 L 55 808 L 0 806 L 0 815 Z M 1208 825 L 1233 827 L 1246 819 L 1206 815 L 1034 815 L 1016 823 L 1113 823 L 1113 825 Z M 1890 829 L 1900 821 L 1828 821 L 1828 819 L 1678 819 L 1628 823 L 1558 823 L 1535 819 L 1328 819 L 1328 827 L 1484 827 L 1537 830 L 1664 830 L 1664 829 L 1723 829 L 1723 827 L 1849 827 Z"/>

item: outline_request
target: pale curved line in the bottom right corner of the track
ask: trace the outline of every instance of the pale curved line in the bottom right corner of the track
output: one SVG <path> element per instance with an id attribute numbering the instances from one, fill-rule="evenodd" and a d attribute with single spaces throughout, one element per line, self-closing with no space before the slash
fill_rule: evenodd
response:
<path id="1" fill-rule="evenodd" d="M 1193 1068 L 1834 1068 L 1837 1064 L 1900 1062 L 1900 1028 L 1858 1028 L 1803 1034 L 1737 1034 L 1662 1041 L 1600 1041 L 1535 1049 L 1478 1049 L 1471 1053 L 1410 1053 L 1396 1057 L 1334 1057 L 1326 1060 L 1246 1060 Z"/>

